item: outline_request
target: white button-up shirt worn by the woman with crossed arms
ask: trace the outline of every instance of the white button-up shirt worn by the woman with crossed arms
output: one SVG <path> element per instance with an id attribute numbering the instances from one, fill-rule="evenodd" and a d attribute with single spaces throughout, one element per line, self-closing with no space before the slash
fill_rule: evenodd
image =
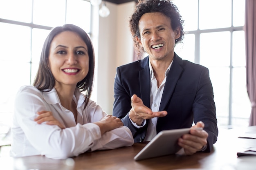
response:
<path id="1" fill-rule="evenodd" d="M 133 144 L 132 133 L 126 126 L 101 136 L 99 126 L 92 123 L 107 115 L 101 106 L 90 100 L 83 109 L 84 95 L 78 89 L 73 99 L 77 105 L 77 124 L 73 113 L 61 106 L 55 88 L 42 92 L 34 86 L 22 86 L 14 106 L 11 156 L 45 155 L 53 159 L 65 159 L 88 150 L 114 149 Z M 43 110 L 51 111 L 65 129 L 47 125 L 46 122 L 37 124 L 34 119 L 37 112 Z"/>

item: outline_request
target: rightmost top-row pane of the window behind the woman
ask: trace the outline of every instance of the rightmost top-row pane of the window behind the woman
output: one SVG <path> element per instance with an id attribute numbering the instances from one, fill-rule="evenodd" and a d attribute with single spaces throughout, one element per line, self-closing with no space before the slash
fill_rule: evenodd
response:
<path id="1" fill-rule="evenodd" d="M 85 32 L 90 32 L 91 4 L 83 0 L 67 0 L 66 23 L 75 24 Z"/>

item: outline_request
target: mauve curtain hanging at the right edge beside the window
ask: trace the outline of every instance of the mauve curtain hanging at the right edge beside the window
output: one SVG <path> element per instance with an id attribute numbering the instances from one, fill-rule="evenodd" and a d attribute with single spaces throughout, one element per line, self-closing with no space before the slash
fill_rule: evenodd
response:
<path id="1" fill-rule="evenodd" d="M 252 110 L 249 126 L 256 125 L 256 0 L 245 1 L 246 86 Z"/>

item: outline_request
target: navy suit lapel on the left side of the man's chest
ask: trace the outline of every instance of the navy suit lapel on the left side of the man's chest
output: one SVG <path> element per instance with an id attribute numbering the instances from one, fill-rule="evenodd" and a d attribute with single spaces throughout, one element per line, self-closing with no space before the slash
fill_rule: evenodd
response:
<path id="1" fill-rule="evenodd" d="M 150 108 L 150 73 L 148 62 L 148 57 L 145 57 L 141 62 L 141 67 L 144 69 L 139 71 L 139 88 L 143 104 Z"/>

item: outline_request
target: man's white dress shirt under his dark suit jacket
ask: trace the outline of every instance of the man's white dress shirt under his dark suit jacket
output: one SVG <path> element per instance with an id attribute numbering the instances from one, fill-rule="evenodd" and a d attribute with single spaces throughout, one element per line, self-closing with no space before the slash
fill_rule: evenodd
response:
<path id="1" fill-rule="evenodd" d="M 167 75 L 170 71 L 172 63 L 173 62 L 171 62 L 171 64 L 166 69 L 165 78 L 164 78 L 164 80 L 162 81 L 161 85 L 158 88 L 157 87 L 157 79 L 155 78 L 152 65 L 151 65 L 150 62 L 148 62 L 150 77 L 151 77 L 151 79 L 150 79 L 150 87 L 151 87 L 150 88 L 150 109 L 153 112 L 158 112 L 159 111 L 159 106 L 160 106 L 162 95 L 163 95 L 163 92 L 164 92 L 164 85 L 165 85 L 165 82 L 166 82 L 166 77 L 167 77 Z M 135 124 L 131 119 L 130 119 L 130 121 L 137 128 L 142 128 L 143 126 L 146 125 L 145 120 L 144 120 L 144 122 L 142 123 L 141 126 L 138 126 L 137 124 Z M 151 141 L 157 135 L 156 126 L 157 126 L 157 117 L 149 119 L 148 128 L 147 128 L 147 132 L 146 132 L 146 136 L 145 136 L 144 141 Z"/>

